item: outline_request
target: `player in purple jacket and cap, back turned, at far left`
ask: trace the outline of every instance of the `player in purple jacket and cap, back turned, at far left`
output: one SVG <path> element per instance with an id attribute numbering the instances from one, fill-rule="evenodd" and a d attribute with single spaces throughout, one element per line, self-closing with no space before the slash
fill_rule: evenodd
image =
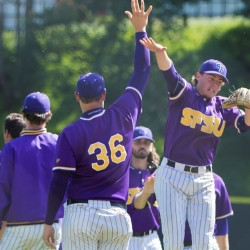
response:
<path id="1" fill-rule="evenodd" d="M 46 130 L 52 116 L 48 96 L 30 93 L 22 113 L 26 128 L 20 137 L 5 144 L 1 152 L 0 221 L 7 221 L 7 226 L 0 249 L 49 249 L 41 234 L 58 136 Z M 54 220 L 57 249 L 61 240 L 58 223 L 61 217 L 62 208 Z"/>

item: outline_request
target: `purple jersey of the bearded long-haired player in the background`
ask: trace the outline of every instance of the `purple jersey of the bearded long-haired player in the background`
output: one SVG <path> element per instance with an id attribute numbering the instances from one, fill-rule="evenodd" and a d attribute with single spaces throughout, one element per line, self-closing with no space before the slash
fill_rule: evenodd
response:
<path id="1" fill-rule="evenodd" d="M 142 190 L 145 180 L 150 175 L 148 169 L 139 170 L 130 167 L 127 211 L 131 217 L 134 232 L 147 232 L 157 230 L 160 227 L 160 214 L 155 194 L 149 197 L 148 204 L 144 209 L 135 209 L 133 203 L 135 195 Z"/>

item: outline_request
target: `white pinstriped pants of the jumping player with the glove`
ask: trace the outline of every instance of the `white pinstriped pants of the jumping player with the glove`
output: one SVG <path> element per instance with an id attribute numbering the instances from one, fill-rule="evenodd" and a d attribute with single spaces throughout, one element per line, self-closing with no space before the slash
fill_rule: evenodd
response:
<path id="1" fill-rule="evenodd" d="M 161 215 L 164 250 L 183 250 L 185 221 L 192 233 L 192 250 L 212 250 L 215 191 L 211 172 L 192 174 L 161 165 L 155 194 Z"/>

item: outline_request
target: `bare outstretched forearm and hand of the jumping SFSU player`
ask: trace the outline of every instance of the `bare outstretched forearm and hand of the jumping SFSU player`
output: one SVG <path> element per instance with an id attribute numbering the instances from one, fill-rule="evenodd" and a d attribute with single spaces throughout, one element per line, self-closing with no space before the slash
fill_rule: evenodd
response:
<path id="1" fill-rule="evenodd" d="M 141 44 L 148 48 L 150 51 L 155 53 L 157 64 L 160 70 L 166 71 L 170 69 L 172 65 L 171 59 L 168 57 L 166 52 L 167 48 L 160 44 L 155 43 L 153 38 L 145 37 L 141 41 Z"/>

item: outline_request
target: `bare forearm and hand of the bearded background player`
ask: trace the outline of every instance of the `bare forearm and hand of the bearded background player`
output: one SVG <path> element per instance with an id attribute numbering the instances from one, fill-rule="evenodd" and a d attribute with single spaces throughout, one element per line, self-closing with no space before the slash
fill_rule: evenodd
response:
<path id="1" fill-rule="evenodd" d="M 144 184 L 143 190 L 138 193 L 134 198 L 134 208 L 143 209 L 145 208 L 148 198 L 154 193 L 154 176 L 149 176 Z"/>

